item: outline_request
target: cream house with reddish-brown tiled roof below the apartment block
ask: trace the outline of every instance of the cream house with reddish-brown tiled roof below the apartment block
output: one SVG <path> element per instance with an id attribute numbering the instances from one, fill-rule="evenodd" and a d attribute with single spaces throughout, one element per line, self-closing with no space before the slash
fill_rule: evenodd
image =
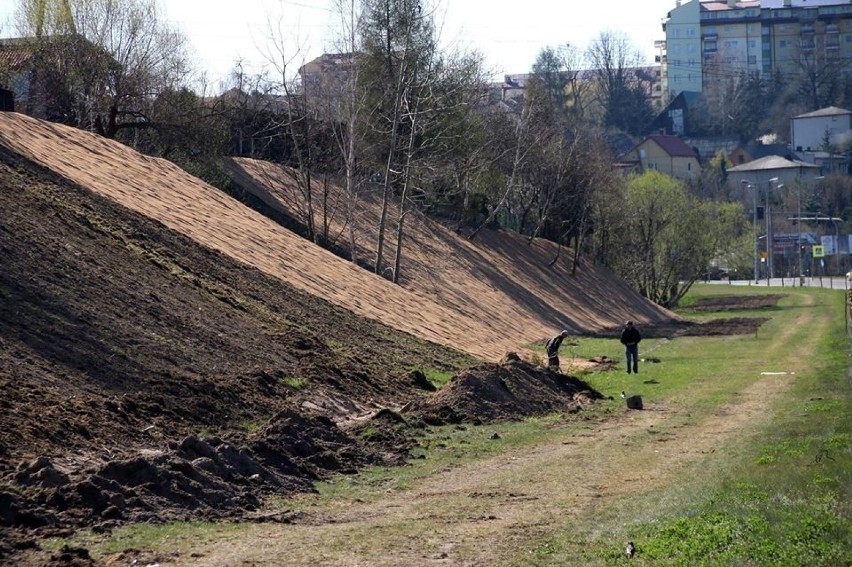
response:
<path id="1" fill-rule="evenodd" d="M 686 180 L 701 173 L 698 154 L 677 136 L 648 136 L 618 160 L 622 170 L 659 171 Z"/>

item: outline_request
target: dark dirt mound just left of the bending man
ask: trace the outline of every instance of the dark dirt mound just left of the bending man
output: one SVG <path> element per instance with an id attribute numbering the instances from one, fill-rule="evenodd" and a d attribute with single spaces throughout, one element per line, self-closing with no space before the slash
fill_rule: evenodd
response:
<path id="1" fill-rule="evenodd" d="M 573 413 L 602 397 L 582 380 L 509 356 L 463 370 L 410 412 L 430 424 L 484 424 Z"/>

